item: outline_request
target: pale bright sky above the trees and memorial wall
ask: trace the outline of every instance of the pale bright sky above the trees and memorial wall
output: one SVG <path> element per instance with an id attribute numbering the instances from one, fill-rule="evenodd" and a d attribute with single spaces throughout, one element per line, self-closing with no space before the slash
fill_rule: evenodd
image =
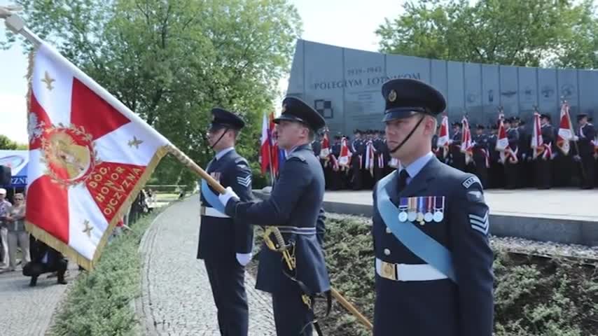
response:
<path id="1" fill-rule="evenodd" d="M 384 18 L 396 18 L 405 0 L 291 0 L 303 21 L 305 40 L 377 51 L 374 31 Z M 0 0 L 0 6 L 11 3 Z M 0 20 L 4 21 L 4 20 Z M 6 27 L 0 22 L 0 38 Z M 27 143 L 27 56 L 20 44 L 0 50 L 0 134 Z M 286 90 L 288 78 L 279 82 Z"/>

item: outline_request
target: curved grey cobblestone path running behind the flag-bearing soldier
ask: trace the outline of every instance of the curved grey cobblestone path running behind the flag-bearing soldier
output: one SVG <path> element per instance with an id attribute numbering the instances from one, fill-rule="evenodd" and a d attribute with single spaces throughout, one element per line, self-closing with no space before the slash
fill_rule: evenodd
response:
<path id="1" fill-rule="evenodd" d="M 220 335 L 202 260 L 197 195 L 176 202 L 155 219 L 141 241 L 142 295 L 136 306 L 147 335 Z M 246 274 L 249 335 L 275 335 L 270 297 Z"/>

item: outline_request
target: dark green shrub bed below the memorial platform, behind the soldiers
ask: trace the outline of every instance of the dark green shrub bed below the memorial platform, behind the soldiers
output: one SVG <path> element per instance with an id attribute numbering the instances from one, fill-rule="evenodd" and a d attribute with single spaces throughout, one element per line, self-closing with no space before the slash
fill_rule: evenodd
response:
<path id="1" fill-rule="evenodd" d="M 371 221 L 328 214 L 326 262 L 333 287 L 373 321 Z M 570 260 L 514 258 L 494 251 L 495 336 L 598 335 L 598 272 Z M 335 303 L 321 321 L 330 335 L 370 335 Z"/>

